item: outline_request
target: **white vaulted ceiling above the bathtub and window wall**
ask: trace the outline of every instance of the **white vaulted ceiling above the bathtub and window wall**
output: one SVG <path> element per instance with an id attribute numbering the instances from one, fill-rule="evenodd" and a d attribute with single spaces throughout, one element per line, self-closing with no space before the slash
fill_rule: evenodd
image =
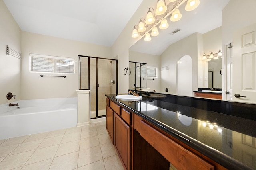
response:
<path id="1" fill-rule="evenodd" d="M 3 1 L 22 31 L 109 47 L 114 44 L 142 2 L 142 0 Z"/>

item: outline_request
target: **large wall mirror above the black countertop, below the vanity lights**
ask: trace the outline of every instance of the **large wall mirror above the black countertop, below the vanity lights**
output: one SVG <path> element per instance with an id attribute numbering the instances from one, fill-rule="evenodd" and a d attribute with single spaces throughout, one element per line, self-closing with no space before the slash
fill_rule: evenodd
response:
<path id="1" fill-rule="evenodd" d="M 144 41 L 142 37 L 130 47 L 129 61 L 147 63 L 147 66 L 158 69 L 154 80 L 146 80 L 150 91 L 194 96 L 193 91 L 198 88 L 218 88 L 229 90 L 232 94 L 232 81 L 236 77 L 227 75 L 232 72 L 232 65 L 228 65 L 232 61 L 227 59 L 232 52 L 228 50 L 234 39 L 234 31 L 256 23 L 256 2 L 200 0 L 198 8 L 190 12 L 184 9 L 185 5 L 186 2 L 179 7 L 182 14 L 179 21 L 171 22 L 168 16 L 167 29 L 161 30 L 156 25 L 158 36 L 151 36 L 151 41 Z M 219 50 L 222 56 L 218 59 L 202 59 L 204 53 L 207 58 L 211 52 L 216 57 Z M 223 70 L 226 70 L 225 75 Z M 228 83 L 226 78 L 229 78 Z M 190 88 L 190 85 L 191 90 L 182 90 L 186 86 Z"/>

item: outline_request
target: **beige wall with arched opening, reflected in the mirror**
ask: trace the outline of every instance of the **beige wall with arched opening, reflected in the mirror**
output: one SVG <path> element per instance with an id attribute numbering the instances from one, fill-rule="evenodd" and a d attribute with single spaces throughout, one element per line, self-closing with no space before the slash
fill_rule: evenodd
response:
<path id="1" fill-rule="evenodd" d="M 161 55 L 161 67 L 169 66 L 169 70 L 161 72 L 161 91 L 168 88 L 168 94 L 176 94 L 177 61 L 189 55 L 192 59 L 192 90 L 197 90 L 198 82 L 198 39 L 202 37 L 200 33 L 194 33 L 176 43 L 170 45 Z M 200 44 L 201 45 L 201 44 Z M 182 49 L 182 50 L 181 50 Z"/>

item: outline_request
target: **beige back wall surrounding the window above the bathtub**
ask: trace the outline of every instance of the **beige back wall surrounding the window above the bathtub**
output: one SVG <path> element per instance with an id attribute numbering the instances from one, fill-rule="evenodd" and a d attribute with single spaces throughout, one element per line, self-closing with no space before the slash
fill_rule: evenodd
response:
<path id="1" fill-rule="evenodd" d="M 60 78 L 40 77 L 42 73 L 31 73 L 29 72 L 30 53 L 74 58 L 75 74 L 65 74 L 66 78 Z M 112 57 L 111 47 L 22 31 L 22 99 L 76 97 L 76 90 L 79 87 L 78 55 Z M 53 74 L 46 73 L 45 75 Z"/>

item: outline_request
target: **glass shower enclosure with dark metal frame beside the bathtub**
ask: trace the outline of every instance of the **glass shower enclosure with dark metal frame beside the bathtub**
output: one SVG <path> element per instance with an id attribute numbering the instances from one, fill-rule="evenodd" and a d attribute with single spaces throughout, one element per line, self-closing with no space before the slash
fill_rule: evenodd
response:
<path id="1" fill-rule="evenodd" d="M 106 117 L 105 94 L 118 93 L 118 60 L 79 55 L 79 90 L 90 90 L 90 119 Z"/>

